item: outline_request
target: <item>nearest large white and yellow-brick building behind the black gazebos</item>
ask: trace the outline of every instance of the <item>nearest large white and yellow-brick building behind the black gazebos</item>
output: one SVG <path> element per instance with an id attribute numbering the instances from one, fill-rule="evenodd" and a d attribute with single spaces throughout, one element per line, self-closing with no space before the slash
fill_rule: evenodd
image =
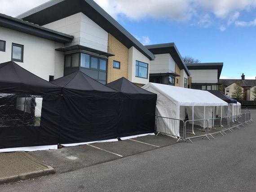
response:
<path id="1" fill-rule="evenodd" d="M 103 84 L 149 82 L 154 54 L 93 0 L 52 0 L 17 18 L 1 14 L 0 31 L 0 63 L 15 61 L 45 80 L 80 70 Z"/>

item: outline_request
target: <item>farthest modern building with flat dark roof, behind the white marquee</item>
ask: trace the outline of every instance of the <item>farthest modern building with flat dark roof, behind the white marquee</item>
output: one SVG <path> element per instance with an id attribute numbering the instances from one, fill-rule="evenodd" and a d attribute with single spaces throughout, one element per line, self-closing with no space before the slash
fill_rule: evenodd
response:
<path id="1" fill-rule="evenodd" d="M 218 90 L 223 63 L 191 63 L 187 64 L 192 78 L 192 89 Z"/>

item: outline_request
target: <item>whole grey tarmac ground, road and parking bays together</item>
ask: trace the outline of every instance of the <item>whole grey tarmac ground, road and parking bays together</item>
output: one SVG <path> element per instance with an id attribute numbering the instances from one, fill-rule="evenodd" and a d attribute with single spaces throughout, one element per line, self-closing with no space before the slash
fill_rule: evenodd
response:
<path id="1" fill-rule="evenodd" d="M 31 152 L 57 174 L 0 185 L 0 191 L 255 192 L 256 122 L 215 138 L 174 144 L 169 137 L 146 136 L 62 148 L 57 155 Z"/>

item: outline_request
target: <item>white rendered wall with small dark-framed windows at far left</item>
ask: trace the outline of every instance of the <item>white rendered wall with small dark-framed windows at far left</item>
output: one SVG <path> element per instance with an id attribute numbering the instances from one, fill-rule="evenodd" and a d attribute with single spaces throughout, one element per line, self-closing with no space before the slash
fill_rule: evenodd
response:
<path id="1" fill-rule="evenodd" d="M 22 44 L 24 45 L 23 63 L 16 61 L 15 63 L 47 81 L 49 75 L 63 76 L 64 57 L 62 53 L 55 51 L 55 48 L 61 48 L 64 44 L 4 27 L 0 27 L 0 40 L 6 41 L 5 52 L 0 51 L 0 63 L 11 61 L 12 43 Z"/>

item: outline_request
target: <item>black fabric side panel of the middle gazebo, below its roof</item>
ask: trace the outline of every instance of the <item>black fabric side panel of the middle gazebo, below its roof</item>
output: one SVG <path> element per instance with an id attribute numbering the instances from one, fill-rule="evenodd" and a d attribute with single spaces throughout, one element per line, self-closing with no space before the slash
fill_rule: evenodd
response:
<path id="1" fill-rule="evenodd" d="M 119 99 L 62 98 L 60 144 L 117 138 Z"/>

